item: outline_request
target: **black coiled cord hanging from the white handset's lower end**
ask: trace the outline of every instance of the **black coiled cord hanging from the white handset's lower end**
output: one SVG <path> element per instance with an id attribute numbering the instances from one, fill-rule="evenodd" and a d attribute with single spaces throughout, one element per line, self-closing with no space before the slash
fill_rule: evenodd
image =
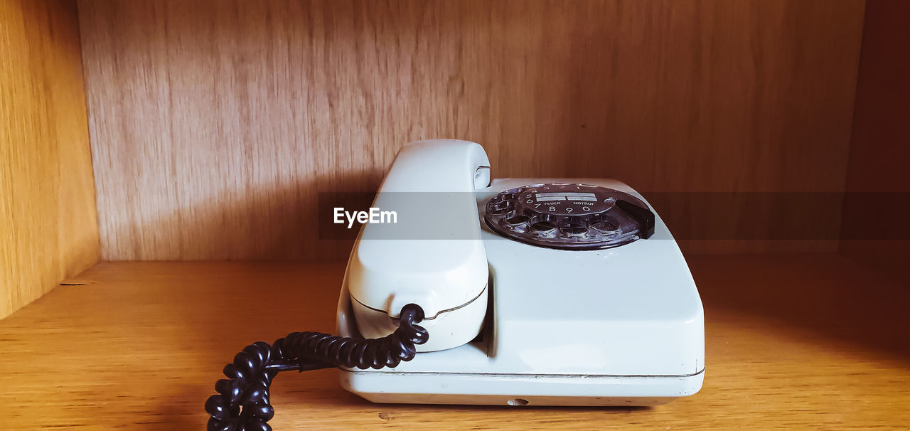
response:
<path id="1" fill-rule="evenodd" d="M 227 364 L 227 379 L 215 384 L 217 395 L 206 400 L 209 431 L 270 431 L 275 409 L 268 386 L 282 371 L 309 371 L 335 366 L 379 369 L 396 367 L 417 354 L 415 344 L 430 338 L 420 323 L 423 309 L 409 303 L 401 308 L 399 327 L 382 338 L 357 339 L 322 333 L 291 333 L 268 345 L 249 344 Z"/>

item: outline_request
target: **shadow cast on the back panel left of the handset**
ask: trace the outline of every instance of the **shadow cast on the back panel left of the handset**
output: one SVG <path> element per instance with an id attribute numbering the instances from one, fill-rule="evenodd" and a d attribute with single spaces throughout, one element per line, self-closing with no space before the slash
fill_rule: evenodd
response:
<path id="1" fill-rule="evenodd" d="M 364 174 L 364 176 L 368 176 Z M 351 176 L 349 176 L 350 178 Z M 337 181 L 332 189 L 362 189 L 362 180 Z M 139 226 L 121 224 L 113 247 L 126 255 L 108 261 L 299 261 L 346 258 L 353 241 L 319 239 L 318 192 L 310 184 L 274 184 L 220 190 L 186 207 L 157 210 Z M 102 220 L 102 222 L 105 222 Z M 106 248 L 106 251 L 108 249 Z M 108 251 L 109 252 L 109 251 Z"/>

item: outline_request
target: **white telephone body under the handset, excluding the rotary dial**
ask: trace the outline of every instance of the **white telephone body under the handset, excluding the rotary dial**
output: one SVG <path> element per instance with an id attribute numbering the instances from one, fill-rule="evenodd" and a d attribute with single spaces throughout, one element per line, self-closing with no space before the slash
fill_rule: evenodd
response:
<path id="1" fill-rule="evenodd" d="M 616 180 L 500 179 L 475 190 L 489 265 L 480 336 L 392 369 L 344 369 L 341 385 L 378 403 L 459 405 L 659 405 L 701 389 L 702 302 L 660 216 L 652 211 L 651 237 L 602 250 L 538 247 L 487 225 L 493 196 L 537 183 L 619 190 L 653 210 Z M 356 282 L 346 273 L 339 294 L 343 336 L 363 336 L 360 326 L 372 324 L 354 317 Z M 430 340 L 448 336 L 430 323 Z"/>

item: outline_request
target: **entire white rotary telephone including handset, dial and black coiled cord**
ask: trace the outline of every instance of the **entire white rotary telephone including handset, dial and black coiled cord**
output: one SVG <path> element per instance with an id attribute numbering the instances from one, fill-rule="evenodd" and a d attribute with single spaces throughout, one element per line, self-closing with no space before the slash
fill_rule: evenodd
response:
<path id="1" fill-rule="evenodd" d="M 359 232 L 340 335 L 250 344 L 208 429 L 270 429 L 268 386 L 287 370 L 338 367 L 380 403 L 658 405 L 701 388 L 692 275 L 622 182 L 490 181 L 480 145 L 433 139 L 401 149 L 373 207 L 397 220 Z"/>

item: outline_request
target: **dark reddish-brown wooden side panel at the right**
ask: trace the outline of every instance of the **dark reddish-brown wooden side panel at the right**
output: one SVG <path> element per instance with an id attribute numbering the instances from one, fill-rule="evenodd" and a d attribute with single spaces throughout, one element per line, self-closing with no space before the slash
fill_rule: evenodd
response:
<path id="1" fill-rule="evenodd" d="M 844 205 L 845 238 L 840 252 L 861 259 L 910 283 L 906 262 L 910 260 L 910 232 L 900 240 L 875 241 L 855 235 L 868 231 L 901 230 L 900 216 L 869 217 L 868 202 L 875 201 L 878 214 L 910 211 L 910 2 L 869 0 L 866 6 L 863 56 L 856 84 L 856 108 L 848 195 Z M 865 193 L 888 193 L 866 195 Z M 897 238 L 896 232 L 892 238 Z"/>

